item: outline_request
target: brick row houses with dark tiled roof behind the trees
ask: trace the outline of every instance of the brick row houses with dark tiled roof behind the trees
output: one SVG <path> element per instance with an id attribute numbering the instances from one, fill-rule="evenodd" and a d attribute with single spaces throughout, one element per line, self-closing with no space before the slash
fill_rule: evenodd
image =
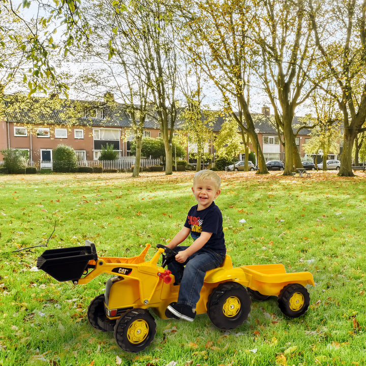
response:
<path id="1" fill-rule="evenodd" d="M 67 101 L 59 109 L 48 113 L 47 118 L 38 118 L 35 123 L 28 113 L 6 113 L 4 119 L 0 119 L 0 150 L 16 148 L 28 151 L 31 161 L 52 161 L 52 149 L 58 144 L 71 146 L 79 160 L 97 160 L 100 156 L 102 145 L 112 144 L 119 151 L 120 157 L 129 157 L 130 142 L 134 139 L 131 130 L 131 118 L 124 105 L 113 103 L 97 103 L 86 101 Z M 78 106 L 76 106 L 78 105 Z M 79 116 L 73 117 L 70 124 L 67 110 L 73 110 L 80 105 L 85 105 Z M 268 116 L 269 108 L 264 107 L 264 115 Z M 42 123 L 46 120 L 47 123 Z M 212 126 L 214 133 L 219 133 L 224 123 L 224 116 L 219 115 Z M 294 124 L 297 123 L 296 118 Z M 180 121 L 178 119 L 179 129 Z M 277 131 L 268 118 L 262 117 L 256 123 L 258 128 L 258 140 L 266 160 L 285 159 L 284 147 L 279 141 Z M 304 156 L 303 144 L 310 138 L 309 130 L 301 130 L 296 138 L 300 155 Z M 160 127 L 158 122 L 146 117 L 144 136 L 159 137 Z M 214 152 L 212 146 L 210 151 Z M 253 147 L 250 145 L 250 149 Z M 188 157 L 188 151 L 187 151 Z M 0 161 L 3 156 L 0 153 Z M 46 167 L 46 166 L 44 166 Z"/>

